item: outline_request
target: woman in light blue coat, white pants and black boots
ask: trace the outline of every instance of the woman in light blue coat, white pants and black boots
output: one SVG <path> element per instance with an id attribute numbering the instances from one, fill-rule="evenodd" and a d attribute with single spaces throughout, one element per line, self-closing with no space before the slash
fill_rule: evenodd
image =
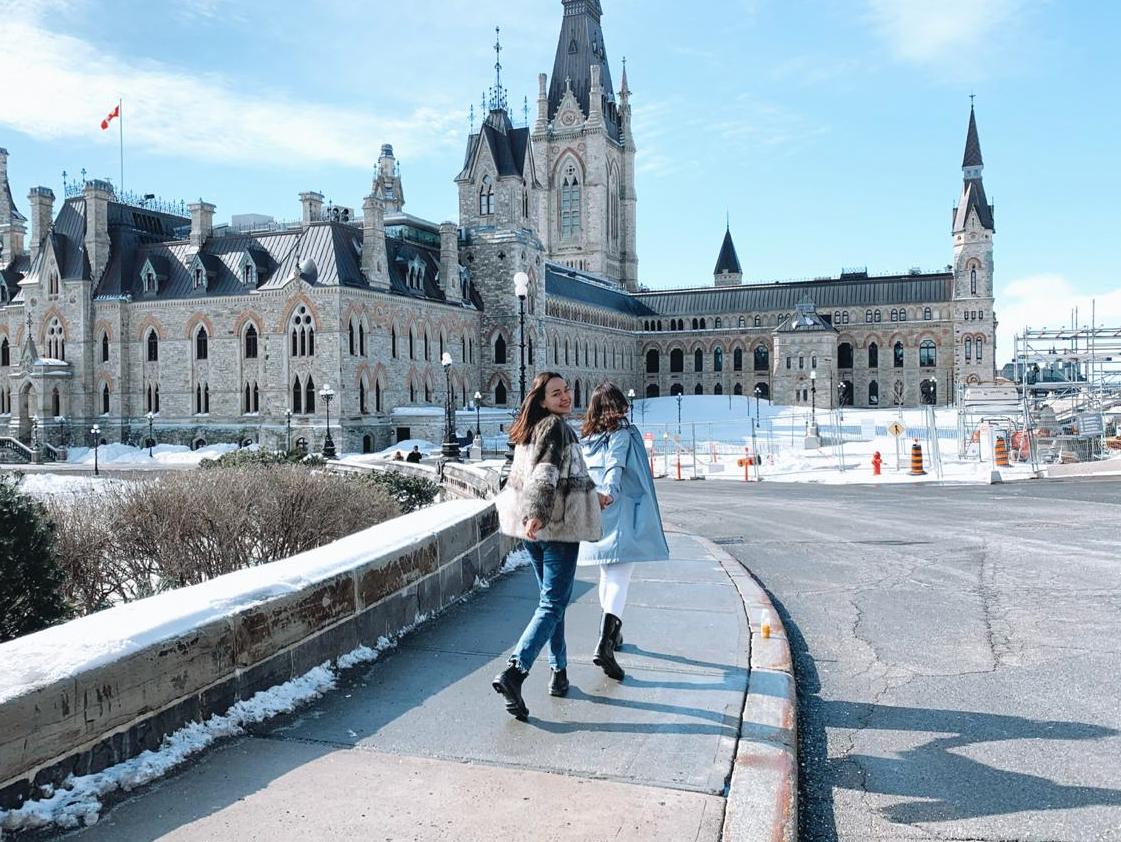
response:
<path id="1" fill-rule="evenodd" d="M 612 382 L 601 383 L 584 416 L 584 461 L 603 506 L 603 538 L 582 542 L 577 564 L 600 567 L 603 623 L 593 661 L 615 681 L 623 670 L 615 660 L 622 645 L 627 590 L 638 562 L 669 558 L 654 476 L 638 428 L 627 419 L 630 405 Z"/>

